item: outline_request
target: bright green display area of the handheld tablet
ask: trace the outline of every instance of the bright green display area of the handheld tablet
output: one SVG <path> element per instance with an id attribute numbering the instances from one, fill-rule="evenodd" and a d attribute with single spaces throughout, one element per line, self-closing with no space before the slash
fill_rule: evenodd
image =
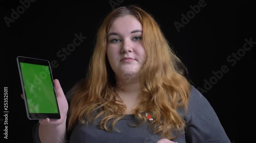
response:
<path id="1" fill-rule="evenodd" d="M 58 113 L 49 66 L 20 63 L 30 113 Z"/>

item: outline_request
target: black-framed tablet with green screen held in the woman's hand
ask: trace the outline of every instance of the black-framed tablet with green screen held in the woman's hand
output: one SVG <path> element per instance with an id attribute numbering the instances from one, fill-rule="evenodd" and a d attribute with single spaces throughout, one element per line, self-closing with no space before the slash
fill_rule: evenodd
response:
<path id="1" fill-rule="evenodd" d="M 28 119 L 60 119 L 50 62 L 26 56 L 16 60 Z"/>

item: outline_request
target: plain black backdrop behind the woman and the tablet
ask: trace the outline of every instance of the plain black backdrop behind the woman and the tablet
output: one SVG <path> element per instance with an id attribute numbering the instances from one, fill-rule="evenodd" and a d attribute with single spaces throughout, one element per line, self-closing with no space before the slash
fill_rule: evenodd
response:
<path id="1" fill-rule="evenodd" d="M 253 124 L 253 120 L 250 120 L 252 112 L 248 109 L 255 108 L 253 104 L 249 104 L 253 95 L 249 91 L 255 85 L 249 83 L 255 79 L 252 70 L 255 66 L 255 44 L 233 66 L 227 61 L 228 56 L 243 49 L 245 39 L 256 41 L 255 31 L 252 30 L 255 25 L 252 4 L 246 1 L 206 0 L 206 6 L 201 7 L 178 32 L 174 22 L 182 23 L 181 14 L 186 15 L 191 11 L 189 6 L 198 5 L 200 1 L 113 0 L 30 2 L 30 6 L 14 22 L 10 22 L 9 26 L 5 18 L 11 18 L 11 9 L 17 11 L 22 4 L 19 1 L 1 1 L 1 53 L 4 58 L 1 70 L 4 72 L 2 83 L 4 87 L 8 87 L 9 111 L 8 139 L 4 139 L 4 117 L 0 117 L 1 138 L 4 142 L 32 142 L 32 128 L 37 122 L 28 120 L 26 116 L 24 100 L 20 97 L 22 87 L 16 57 L 23 55 L 50 62 L 56 60 L 59 65 L 53 68 L 53 77 L 59 79 L 66 93 L 77 80 L 86 75 L 97 28 L 104 16 L 112 10 L 110 2 L 119 2 L 118 5 L 138 4 L 152 13 L 187 66 L 189 77 L 196 88 L 205 89 L 206 81 L 215 76 L 212 72 L 227 66 L 229 71 L 223 73 L 203 95 L 214 107 L 232 142 L 252 141 L 252 132 L 241 128 Z M 57 52 L 61 48 L 67 48 L 73 42 L 74 34 L 80 33 L 87 39 L 76 46 L 65 60 L 63 57 L 59 58 Z M 242 136 L 245 133 L 247 135 Z"/>

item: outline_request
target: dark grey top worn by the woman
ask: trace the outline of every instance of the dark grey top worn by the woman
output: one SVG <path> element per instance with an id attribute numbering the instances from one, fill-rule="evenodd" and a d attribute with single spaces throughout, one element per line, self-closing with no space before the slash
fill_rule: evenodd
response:
<path id="1" fill-rule="evenodd" d="M 182 113 L 181 113 L 182 114 Z M 183 116 L 183 115 L 181 115 Z M 154 117 L 152 117 L 154 119 Z M 223 129 L 216 112 L 207 99 L 193 87 L 188 102 L 188 112 L 184 115 L 188 121 L 187 128 L 173 141 L 179 143 L 231 143 Z M 148 122 L 138 127 L 131 127 L 131 123 L 137 123 L 134 115 L 125 115 L 118 121 L 115 127 L 119 132 L 108 132 L 96 124 L 84 125 L 77 123 L 68 133 L 69 143 L 155 143 L 160 139 L 158 134 L 153 134 L 148 129 Z M 37 123 L 33 129 L 34 142 L 40 143 Z"/>

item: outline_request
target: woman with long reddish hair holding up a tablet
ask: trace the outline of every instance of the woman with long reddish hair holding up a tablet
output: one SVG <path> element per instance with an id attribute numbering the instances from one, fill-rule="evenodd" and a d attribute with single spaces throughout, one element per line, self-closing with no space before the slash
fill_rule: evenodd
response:
<path id="1" fill-rule="evenodd" d="M 54 80 L 61 119 L 40 120 L 34 142 L 230 142 L 185 72 L 151 14 L 116 8 L 99 27 L 87 77 L 66 96 Z"/>

